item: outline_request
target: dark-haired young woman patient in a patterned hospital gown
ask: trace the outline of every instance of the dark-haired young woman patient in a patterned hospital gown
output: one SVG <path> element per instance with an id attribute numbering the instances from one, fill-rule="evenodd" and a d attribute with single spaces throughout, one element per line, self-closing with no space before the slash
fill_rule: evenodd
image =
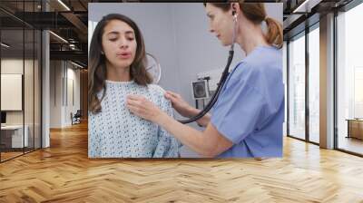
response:
<path id="1" fill-rule="evenodd" d="M 90 158 L 175 158 L 179 142 L 157 124 L 125 106 L 128 94 L 143 95 L 172 116 L 172 104 L 146 72 L 138 26 L 123 14 L 108 14 L 94 29 L 89 70 Z"/>

